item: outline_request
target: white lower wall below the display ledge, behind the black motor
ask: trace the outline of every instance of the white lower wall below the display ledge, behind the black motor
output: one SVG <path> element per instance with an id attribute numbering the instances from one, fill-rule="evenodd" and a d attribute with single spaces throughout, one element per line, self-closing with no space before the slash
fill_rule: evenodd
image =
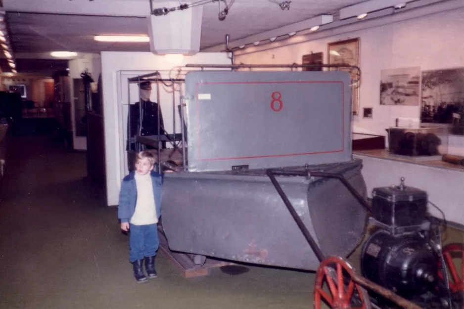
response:
<path id="1" fill-rule="evenodd" d="M 368 196 L 372 197 L 372 189 L 400 184 L 405 177 L 405 184 L 424 190 L 429 200 L 444 213 L 446 220 L 464 225 L 464 170 L 438 168 L 421 164 L 399 162 L 364 155 L 354 155 L 363 160 L 362 174 L 367 184 Z M 430 213 L 442 218 L 433 206 Z"/>

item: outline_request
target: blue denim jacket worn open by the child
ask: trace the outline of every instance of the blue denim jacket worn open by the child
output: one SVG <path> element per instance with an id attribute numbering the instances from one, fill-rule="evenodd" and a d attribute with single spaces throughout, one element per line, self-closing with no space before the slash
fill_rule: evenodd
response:
<path id="1" fill-rule="evenodd" d="M 119 192 L 118 218 L 121 223 L 129 222 L 136 211 L 137 204 L 137 185 L 134 178 L 135 172 L 129 173 L 124 177 Z M 161 216 L 161 188 L 163 186 L 163 177 L 151 171 L 151 182 L 153 183 L 153 196 L 155 197 L 156 215 Z"/>

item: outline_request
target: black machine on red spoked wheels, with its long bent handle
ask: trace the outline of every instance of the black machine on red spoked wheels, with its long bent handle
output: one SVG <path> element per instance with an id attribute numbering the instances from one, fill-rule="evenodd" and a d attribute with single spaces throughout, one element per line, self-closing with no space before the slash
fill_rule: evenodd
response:
<path id="1" fill-rule="evenodd" d="M 355 274 L 342 257 L 325 257 L 275 177 L 275 175 L 304 176 L 305 173 L 307 177 L 337 178 L 371 213 L 369 236 L 366 237 L 361 251 L 362 276 Z M 458 276 L 456 268 L 451 271 L 454 282 L 452 283 L 446 263 L 449 260 L 445 261 L 444 258 L 453 249 L 459 249 L 459 253 L 464 256 L 464 244 L 449 244 L 442 248 L 443 224 L 429 215 L 427 205 L 433 204 L 428 201 L 427 192 L 406 186 L 405 179 L 401 178 L 401 184 L 398 186 L 374 188 L 372 202 L 369 205 L 340 174 L 309 170 L 305 172 L 268 170 L 267 174 L 308 244 L 321 261 L 315 283 L 316 309 L 323 308 L 322 298 L 329 300 L 329 308 L 332 309 L 464 308 L 464 283 L 456 282 Z M 443 221 L 446 228 L 445 218 Z M 341 270 L 343 267 L 351 269 L 348 271 L 348 276 Z M 321 292 L 323 282 L 326 280 L 324 278 L 327 277 L 332 278 L 328 280 L 331 281 L 331 286 L 329 284 L 331 297 Z M 340 289 L 333 283 L 340 280 L 343 280 L 346 286 L 351 286 L 351 289 L 347 287 L 345 291 L 350 290 L 352 295 L 358 296 L 347 298 L 343 296 L 344 292 L 340 294 Z M 353 293 L 354 284 L 369 287 L 371 291 L 365 295 L 364 293 L 367 292 L 362 292 L 357 287 L 355 288 L 357 293 Z M 366 301 L 368 297 L 369 300 Z M 352 303 L 353 301 L 355 303 Z M 369 306 L 366 305 L 367 303 Z"/>

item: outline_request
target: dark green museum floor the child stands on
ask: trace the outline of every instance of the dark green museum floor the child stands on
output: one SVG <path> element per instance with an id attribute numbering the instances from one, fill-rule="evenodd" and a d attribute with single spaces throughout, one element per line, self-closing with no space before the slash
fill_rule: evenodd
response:
<path id="1" fill-rule="evenodd" d="M 163 255 L 159 277 L 138 284 L 128 238 L 86 176 L 85 154 L 48 136 L 7 141 L 0 185 L 0 308 L 312 308 L 314 273 L 247 267 L 185 279 Z M 463 241 L 449 229 L 447 241 Z M 359 250 L 350 258 L 359 268 Z"/>

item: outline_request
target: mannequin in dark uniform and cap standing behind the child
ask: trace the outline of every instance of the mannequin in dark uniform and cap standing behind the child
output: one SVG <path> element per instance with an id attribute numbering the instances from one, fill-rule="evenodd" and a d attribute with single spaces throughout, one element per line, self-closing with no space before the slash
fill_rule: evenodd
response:
<path id="1" fill-rule="evenodd" d="M 128 143 L 127 150 L 136 150 L 136 135 L 160 135 L 166 134 L 164 131 L 163 115 L 160 110 L 158 125 L 158 103 L 150 101 L 151 82 L 141 82 L 139 84 L 140 101 L 129 105 L 130 113 L 128 115 Z M 140 128 L 140 106 L 141 106 L 141 128 Z M 153 149 L 146 146 L 147 149 Z M 162 142 L 162 148 L 166 148 L 166 142 Z"/>

